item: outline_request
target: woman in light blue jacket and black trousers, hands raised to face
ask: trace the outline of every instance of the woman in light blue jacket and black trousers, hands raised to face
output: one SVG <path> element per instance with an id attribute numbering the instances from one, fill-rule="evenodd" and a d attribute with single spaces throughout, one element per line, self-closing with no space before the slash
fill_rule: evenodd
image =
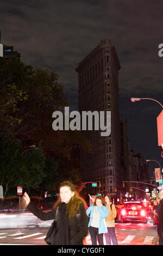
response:
<path id="1" fill-rule="evenodd" d="M 107 233 L 107 227 L 105 223 L 105 217 L 108 216 L 108 208 L 102 197 L 96 197 L 94 205 L 91 205 L 86 214 L 90 215 L 89 231 L 92 240 L 92 245 L 97 245 L 97 239 L 99 245 L 104 245 L 103 234 Z"/>

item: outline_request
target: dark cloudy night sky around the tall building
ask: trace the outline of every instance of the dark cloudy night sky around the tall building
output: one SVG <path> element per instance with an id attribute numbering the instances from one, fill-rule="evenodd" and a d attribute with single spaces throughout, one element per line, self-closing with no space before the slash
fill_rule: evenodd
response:
<path id="1" fill-rule="evenodd" d="M 130 148 L 145 159 L 161 162 L 156 117 L 163 103 L 162 0 L 1 0 L 1 43 L 13 45 L 21 60 L 55 70 L 78 110 L 74 69 L 101 40 L 111 39 L 121 63 L 120 116 L 128 120 Z M 155 162 L 152 166 L 158 167 Z"/>

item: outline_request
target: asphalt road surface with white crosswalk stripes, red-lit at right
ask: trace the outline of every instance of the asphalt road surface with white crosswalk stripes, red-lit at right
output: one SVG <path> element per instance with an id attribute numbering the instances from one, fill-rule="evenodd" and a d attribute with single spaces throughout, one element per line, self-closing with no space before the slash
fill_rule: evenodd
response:
<path id="1" fill-rule="evenodd" d="M 45 224 L 45 223 L 44 223 Z M 33 222 L 34 225 L 34 222 Z M 49 227 L 3 228 L 0 229 L 0 245 L 46 245 L 44 241 Z M 156 245 L 158 235 L 153 222 L 116 223 L 118 245 Z M 86 237 L 87 245 L 91 245 L 90 235 Z M 104 237 L 105 245 L 105 237 Z"/>

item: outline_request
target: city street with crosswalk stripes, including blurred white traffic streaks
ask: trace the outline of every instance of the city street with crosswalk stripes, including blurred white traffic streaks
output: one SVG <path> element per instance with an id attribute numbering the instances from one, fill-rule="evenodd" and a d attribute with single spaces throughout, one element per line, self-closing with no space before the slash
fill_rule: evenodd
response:
<path id="1" fill-rule="evenodd" d="M 0 216 L 0 245 L 46 245 L 44 239 L 52 221 L 40 221 L 30 213 Z M 115 230 L 119 245 L 156 245 L 158 241 L 152 220 L 147 224 L 117 221 Z M 91 245 L 89 234 L 86 244 Z"/>

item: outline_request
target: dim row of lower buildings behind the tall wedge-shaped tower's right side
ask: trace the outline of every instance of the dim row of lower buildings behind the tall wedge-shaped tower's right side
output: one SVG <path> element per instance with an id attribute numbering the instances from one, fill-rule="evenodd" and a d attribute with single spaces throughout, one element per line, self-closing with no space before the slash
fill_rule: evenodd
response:
<path id="1" fill-rule="evenodd" d="M 140 153 L 135 153 L 130 149 L 130 143 L 127 137 L 127 119 L 121 120 L 121 167 L 124 182 L 123 194 L 130 193 L 134 198 L 145 198 L 145 189 L 148 183 L 148 164 Z M 131 197 L 132 198 L 132 197 Z M 129 198 L 129 199 L 131 199 Z"/>

